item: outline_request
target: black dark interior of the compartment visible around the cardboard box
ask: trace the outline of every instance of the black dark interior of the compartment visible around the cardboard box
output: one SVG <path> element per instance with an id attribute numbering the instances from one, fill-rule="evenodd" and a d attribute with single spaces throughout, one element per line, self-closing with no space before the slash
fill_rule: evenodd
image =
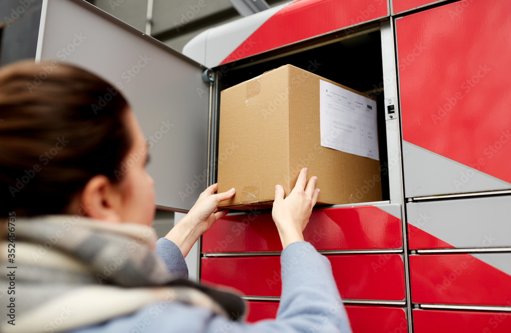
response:
<path id="1" fill-rule="evenodd" d="M 382 194 L 383 200 L 389 200 L 380 31 L 242 68 L 234 66 L 227 72 L 223 70 L 226 73 L 222 73 L 218 81 L 218 92 L 286 64 L 309 70 L 377 99 Z M 223 67 L 223 69 L 225 68 L 229 68 L 229 65 Z"/>

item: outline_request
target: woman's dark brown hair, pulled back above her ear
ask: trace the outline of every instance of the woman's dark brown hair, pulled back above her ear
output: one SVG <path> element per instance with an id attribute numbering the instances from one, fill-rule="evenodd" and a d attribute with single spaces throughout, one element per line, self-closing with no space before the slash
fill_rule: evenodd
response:
<path id="1" fill-rule="evenodd" d="M 0 68 L 0 217 L 65 213 L 90 178 L 117 183 L 127 110 L 120 91 L 72 65 Z"/>

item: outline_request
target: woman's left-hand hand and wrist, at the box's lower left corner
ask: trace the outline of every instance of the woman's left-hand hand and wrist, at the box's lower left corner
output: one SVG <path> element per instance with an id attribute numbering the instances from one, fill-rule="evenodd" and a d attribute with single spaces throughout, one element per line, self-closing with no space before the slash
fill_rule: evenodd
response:
<path id="1" fill-rule="evenodd" d="M 165 236 L 179 247 L 183 256 L 188 255 L 195 242 L 211 228 L 215 221 L 229 212 L 228 209 L 218 211 L 218 204 L 232 198 L 236 193 L 235 189 L 231 188 L 227 192 L 214 194 L 216 191 L 217 183 L 207 187 L 188 214 Z"/>

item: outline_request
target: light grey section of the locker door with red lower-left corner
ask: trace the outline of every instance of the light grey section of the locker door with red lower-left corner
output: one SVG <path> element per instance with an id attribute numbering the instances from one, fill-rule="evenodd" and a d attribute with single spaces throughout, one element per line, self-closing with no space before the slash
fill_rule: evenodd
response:
<path id="1" fill-rule="evenodd" d="M 406 204 L 409 224 L 456 248 L 511 247 L 511 196 Z"/>

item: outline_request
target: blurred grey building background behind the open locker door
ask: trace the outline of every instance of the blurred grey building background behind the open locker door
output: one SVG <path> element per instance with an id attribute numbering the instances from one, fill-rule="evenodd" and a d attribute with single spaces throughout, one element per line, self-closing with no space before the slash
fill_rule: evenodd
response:
<path id="1" fill-rule="evenodd" d="M 199 33 L 289 0 L 88 0 L 181 52 Z M 233 5 L 234 4 L 234 5 Z M 149 10 L 148 10 L 149 6 Z M 259 7 L 258 7 L 259 6 Z M 0 1 L 0 66 L 35 57 L 42 0 Z M 240 14 L 240 12 L 242 14 Z M 94 22 L 91 22 L 94 24 Z"/>

